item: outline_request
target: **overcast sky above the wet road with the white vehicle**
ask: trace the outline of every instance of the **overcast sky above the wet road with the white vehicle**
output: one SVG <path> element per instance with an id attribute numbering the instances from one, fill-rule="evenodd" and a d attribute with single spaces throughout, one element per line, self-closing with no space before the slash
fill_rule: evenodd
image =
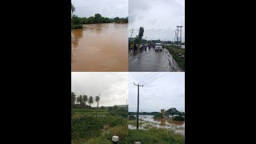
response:
<path id="1" fill-rule="evenodd" d="M 182 42 L 185 42 L 185 0 L 129 0 L 129 38 L 138 35 L 144 27 L 147 40 L 174 41 L 176 26 L 182 27 Z"/>

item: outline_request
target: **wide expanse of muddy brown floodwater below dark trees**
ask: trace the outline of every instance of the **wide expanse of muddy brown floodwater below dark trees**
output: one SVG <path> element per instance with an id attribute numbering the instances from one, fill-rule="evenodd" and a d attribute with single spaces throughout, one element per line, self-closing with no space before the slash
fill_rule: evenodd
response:
<path id="1" fill-rule="evenodd" d="M 128 71 L 127 24 L 84 25 L 71 30 L 72 71 Z"/>

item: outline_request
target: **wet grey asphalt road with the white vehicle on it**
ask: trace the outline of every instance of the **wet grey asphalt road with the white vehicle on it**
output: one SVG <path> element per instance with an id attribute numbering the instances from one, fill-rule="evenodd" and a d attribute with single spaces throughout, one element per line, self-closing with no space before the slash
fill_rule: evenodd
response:
<path id="1" fill-rule="evenodd" d="M 182 71 L 182 69 L 168 50 L 158 52 L 147 48 L 142 52 L 130 52 L 129 71 Z"/>

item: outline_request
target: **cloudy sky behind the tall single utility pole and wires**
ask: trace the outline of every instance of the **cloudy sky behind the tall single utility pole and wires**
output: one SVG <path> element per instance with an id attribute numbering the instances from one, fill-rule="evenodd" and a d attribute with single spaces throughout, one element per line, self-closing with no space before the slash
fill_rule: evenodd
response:
<path id="1" fill-rule="evenodd" d="M 135 80 L 136 79 L 136 80 Z M 155 80 L 154 80 L 155 79 Z M 152 81 L 152 82 L 150 82 Z M 185 74 L 182 72 L 129 72 L 129 111 L 137 111 L 138 86 L 139 111 L 158 111 L 175 107 L 185 112 Z"/>

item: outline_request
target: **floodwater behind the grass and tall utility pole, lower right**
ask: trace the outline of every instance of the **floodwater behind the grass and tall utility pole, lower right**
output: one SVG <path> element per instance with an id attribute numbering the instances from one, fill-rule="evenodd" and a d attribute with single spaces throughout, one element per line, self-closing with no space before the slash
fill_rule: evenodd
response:
<path id="1" fill-rule="evenodd" d="M 168 118 L 154 118 L 154 115 L 142 115 L 139 116 L 142 119 L 143 124 L 138 129 L 146 130 L 146 127 L 152 126 L 156 128 L 172 129 L 178 134 L 185 135 L 185 122 L 172 121 Z M 136 129 L 136 126 L 128 125 L 129 129 Z"/>

